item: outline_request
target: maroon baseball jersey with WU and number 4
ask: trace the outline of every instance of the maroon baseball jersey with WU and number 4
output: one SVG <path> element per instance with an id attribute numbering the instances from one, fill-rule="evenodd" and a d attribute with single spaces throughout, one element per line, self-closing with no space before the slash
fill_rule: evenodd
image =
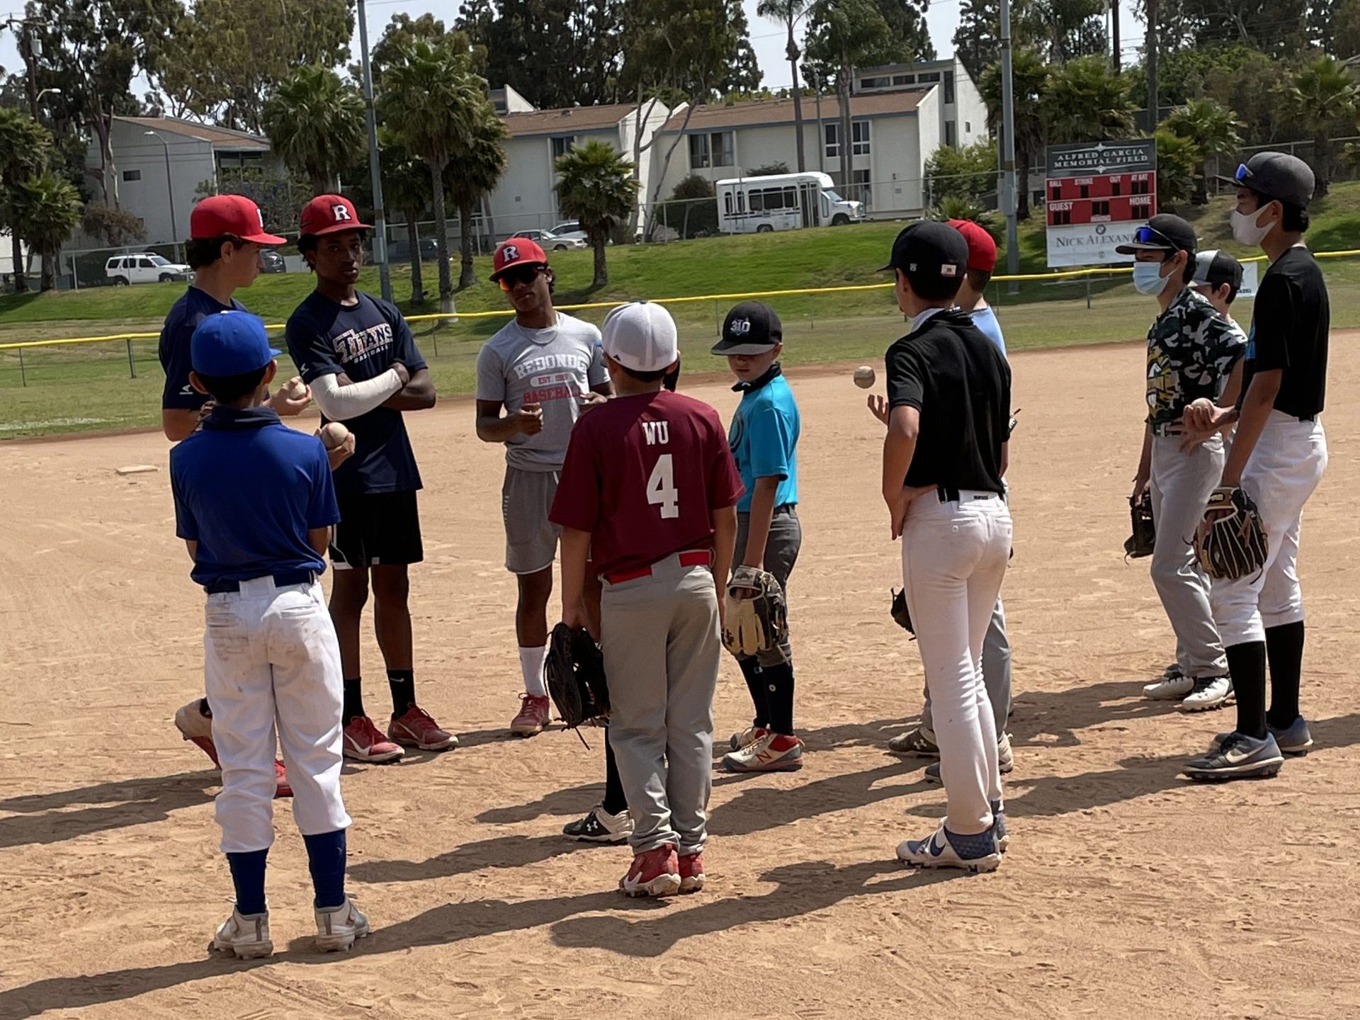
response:
<path id="1" fill-rule="evenodd" d="M 615 397 L 577 422 L 548 520 L 589 532 L 594 570 L 619 574 L 711 548 L 710 511 L 740 496 L 718 412 L 661 390 Z"/>

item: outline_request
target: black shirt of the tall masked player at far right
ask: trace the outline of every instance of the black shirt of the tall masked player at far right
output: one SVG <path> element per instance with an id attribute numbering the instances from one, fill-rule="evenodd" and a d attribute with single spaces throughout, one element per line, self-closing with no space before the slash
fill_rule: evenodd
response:
<path id="1" fill-rule="evenodd" d="M 1266 271 L 1257 290 L 1243 394 L 1258 371 L 1281 369 L 1276 411 L 1295 418 L 1321 415 L 1327 390 L 1330 328 L 1331 307 L 1322 269 L 1307 248 L 1291 248 Z"/>

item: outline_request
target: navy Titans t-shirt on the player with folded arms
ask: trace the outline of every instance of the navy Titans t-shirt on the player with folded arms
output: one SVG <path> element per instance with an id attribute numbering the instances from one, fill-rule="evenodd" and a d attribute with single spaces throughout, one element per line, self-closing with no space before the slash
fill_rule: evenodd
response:
<path id="1" fill-rule="evenodd" d="M 367 294 L 356 296 L 358 303 L 347 307 L 313 291 L 292 313 L 286 337 L 303 382 L 341 373 L 351 382 L 363 382 L 382 375 L 394 362 L 412 375 L 427 367 L 401 313 Z M 335 472 L 341 496 L 420 488 L 400 411 L 375 407 L 344 424 L 354 432 L 355 450 Z"/>

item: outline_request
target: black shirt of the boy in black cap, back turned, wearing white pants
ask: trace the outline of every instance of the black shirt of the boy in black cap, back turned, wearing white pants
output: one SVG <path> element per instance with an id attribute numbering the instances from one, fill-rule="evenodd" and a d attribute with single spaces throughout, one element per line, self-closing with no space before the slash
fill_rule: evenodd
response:
<path id="1" fill-rule="evenodd" d="M 907 486 L 1005 491 L 1010 366 L 963 311 L 940 311 L 888 348 L 888 403 L 921 412 Z"/>

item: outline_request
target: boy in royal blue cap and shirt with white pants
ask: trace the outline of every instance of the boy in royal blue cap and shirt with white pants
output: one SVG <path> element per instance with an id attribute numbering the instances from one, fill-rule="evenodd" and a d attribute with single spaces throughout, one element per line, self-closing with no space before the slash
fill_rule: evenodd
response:
<path id="1" fill-rule="evenodd" d="M 170 452 L 175 534 L 208 594 L 204 685 L 222 762 L 216 816 L 237 892 L 212 945 L 242 959 L 273 952 L 264 870 L 275 740 L 311 866 L 317 945 L 347 949 L 369 934 L 344 892 L 340 649 L 317 579 L 340 510 L 321 441 L 262 405 L 277 354 L 254 316 L 205 318 L 193 333 L 189 381 L 215 407 Z"/>

